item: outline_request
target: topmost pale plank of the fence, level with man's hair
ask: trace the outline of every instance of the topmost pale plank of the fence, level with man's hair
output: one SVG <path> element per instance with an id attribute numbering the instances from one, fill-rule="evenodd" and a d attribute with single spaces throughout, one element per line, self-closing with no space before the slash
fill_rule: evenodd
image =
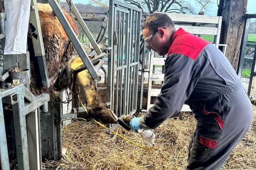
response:
<path id="1" fill-rule="evenodd" d="M 166 13 L 172 21 L 187 22 L 187 23 L 207 23 L 207 24 L 218 24 L 219 17 L 215 16 L 204 16 L 204 15 L 193 15 L 193 14 L 175 14 Z"/>

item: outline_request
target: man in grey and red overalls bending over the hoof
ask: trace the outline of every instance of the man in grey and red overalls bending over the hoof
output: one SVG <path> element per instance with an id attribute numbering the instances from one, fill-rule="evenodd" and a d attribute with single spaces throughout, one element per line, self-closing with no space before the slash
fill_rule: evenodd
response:
<path id="1" fill-rule="evenodd" d="M 218 48 L 182 28 L 176 31 L 166 14 L 151 14 L 142 29 L 148 49 L 167 58 L 156 103 L 143 117 L 132 119 L 131 129 L 155 129 L 185 103 L 197 119 L 187 169 L 220 169 L 253 119 L 236 72 Z"/>

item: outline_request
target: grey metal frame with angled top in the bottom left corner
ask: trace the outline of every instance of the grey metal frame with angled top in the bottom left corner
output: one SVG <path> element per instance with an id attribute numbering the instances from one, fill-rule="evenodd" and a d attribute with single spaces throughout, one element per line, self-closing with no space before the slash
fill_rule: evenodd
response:
<path id="1" fill-rule="evenodd" d="M 26 101 L 25 102 L 25 98 Z M 38 109 L 42 105 L 47 105 L 49 101 L 49 94 L 41 94 L 35 97 L 24 85 L 17 85 L 13 88 L 9 89 L 0 89 L 0 161 L 1 161 L 1 169 L 9 170 L 9 157 L 8 157 L 8 148 L 6 141 L 6 130 L 5 130 L 5 122 L 3 119 L 3 103 L 12 105 L 13 110 L 13 119 L 15 125 L 15 143 L 16 143 L 16 151 L 17 151 L 17 162 L 19 170 L 29 170 L 31 160 L 35 160 L 35 157 L 29 157 L 29 145 L 28 144 L 28 134 L 27 127 L 30 129 L 34 129 L 37 131 L 36 136 L 30 136 L 34 138 L 35 141 L 39 141 L 40 139 L 40 130 L 38 125 L 38 116 L 32 115 L 32 120 L 35 120 L 35 125 L 27 125 L 26 124 L 26 115 Z M 37 113 L 38 114 L 38 113 Z M 33 118 L 34 116 L 34 118 Z M 37 162 L 40 160 L 40 152 L 41 147 L 38 142 L 37 147 L 32 150 L 34 156 L 36 155 Z M 36 164 L 36 169 L 40 169 L 40 163 Z M 35 169 L 35 167 L 31 167 Z"/>

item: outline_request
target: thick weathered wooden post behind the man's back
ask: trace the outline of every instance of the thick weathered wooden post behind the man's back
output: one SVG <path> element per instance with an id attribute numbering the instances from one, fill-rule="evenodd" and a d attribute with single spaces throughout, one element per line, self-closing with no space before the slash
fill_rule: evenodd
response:
<path id="1" fill-rule="evenodd" d="M 220 0 L 218 16 L 222 16 L 220 44 L 227 44 L 226 56 L 237 69 L 243 34 L 247 0 Z"/>

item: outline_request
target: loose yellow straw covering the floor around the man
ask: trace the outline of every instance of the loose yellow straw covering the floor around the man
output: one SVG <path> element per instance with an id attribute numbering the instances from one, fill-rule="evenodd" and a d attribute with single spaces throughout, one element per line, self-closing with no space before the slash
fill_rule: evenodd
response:
<path id="1" fill-rule="evenodd" d="M 43 170 L 184 170 L 187 147 L 194 133 L 193 114 L 180 113 L 154 130 L 155 147 L 141 149 L 115 134 L 108 135 L 95 122 L 77 119 L 62 129 L 60 161 L 45 161 Z M 148 144 L 140 134 L 122 127 L 116 131 L 138 144 Z M 256 169 L 256 108 L 253 125 L 233 150 L 221 170 Z"/>

